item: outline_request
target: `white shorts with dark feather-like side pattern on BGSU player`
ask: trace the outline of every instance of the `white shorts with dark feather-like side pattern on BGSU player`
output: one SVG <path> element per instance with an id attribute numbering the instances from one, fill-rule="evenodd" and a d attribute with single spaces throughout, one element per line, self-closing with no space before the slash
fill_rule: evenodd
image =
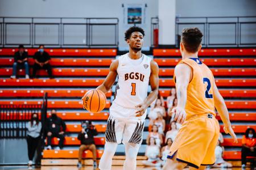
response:
<path id="1" fill-rule="evenodd" d="M 134 143 L 141 145 L 144 118 L 135 117 L 136 109 L 124 108 L 113 104 L 106 127 L 106 142 Z M 146 114 L 146 113 L 144 113 Z M 127 117 L 123 116 L 127 115 Z"/>

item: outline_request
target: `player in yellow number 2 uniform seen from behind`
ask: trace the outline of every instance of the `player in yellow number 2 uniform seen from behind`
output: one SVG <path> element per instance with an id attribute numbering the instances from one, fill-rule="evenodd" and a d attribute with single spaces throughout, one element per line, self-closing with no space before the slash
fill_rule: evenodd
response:
<path id="1" fill-rule="evenodd" d="M 214 164 L 214 150 L 220 133 L 214 108 L 221 116 L 225 133 L 237 142 L 212 71 L 197 56 L 202 37 L 198 28 L 183 29 L 180 42 L 182 60 L 175 67 L 174 75 L 177 107 L 172 110 L 174 120 L 182 126 L 172 143 L 164 170 L 183 169 L 186 165 L 189 169 L 205 169 Z"/>

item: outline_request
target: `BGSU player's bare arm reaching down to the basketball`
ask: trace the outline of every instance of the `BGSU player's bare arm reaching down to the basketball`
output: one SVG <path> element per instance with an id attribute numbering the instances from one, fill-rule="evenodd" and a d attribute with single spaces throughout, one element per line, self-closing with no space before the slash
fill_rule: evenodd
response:
<path id="1" fill-rule="evenodd" d="M 96 88 L 96 90 L 101 90 L 106 94 L 110 90 L 110 88 L 115 83 L 115 79 L 117 78 L 117 67 L 118 67 L 118 59 L 115 59 L 110 67 L 109 67 L 109 74 L 106 76 L 104 82 Z"/>

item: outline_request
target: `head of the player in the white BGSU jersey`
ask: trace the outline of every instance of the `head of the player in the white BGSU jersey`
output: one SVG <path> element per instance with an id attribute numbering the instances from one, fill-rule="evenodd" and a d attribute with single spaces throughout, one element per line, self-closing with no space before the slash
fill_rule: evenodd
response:
<path id="1" fill-rule="evenodd" d="M 140 27 L 130 27 L 125 32 L 125 41 L 135 52 L 139 52 L 143 45 L 144 30 Z"/>

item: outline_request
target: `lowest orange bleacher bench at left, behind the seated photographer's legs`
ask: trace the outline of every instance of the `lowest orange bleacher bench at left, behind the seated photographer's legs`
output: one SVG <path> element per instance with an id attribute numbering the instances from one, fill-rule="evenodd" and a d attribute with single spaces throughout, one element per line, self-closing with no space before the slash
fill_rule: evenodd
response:
<path id="1" fill-rule="evenodd" d="M 43 158 L 78 158 L 79 150 L 44 150 Z M 97 150 L 97 158 L 101 158 L 103 150 Z M 82 158 L 92 158 L 92 152 L 84 151 Z"/>

